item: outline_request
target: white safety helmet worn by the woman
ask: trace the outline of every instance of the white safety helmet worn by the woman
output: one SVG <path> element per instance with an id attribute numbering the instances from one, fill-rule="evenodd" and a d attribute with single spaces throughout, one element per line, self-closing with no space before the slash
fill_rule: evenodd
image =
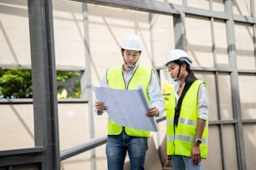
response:
<path id="1" fill-rule="evenodd" d="M 189 65 L 192 64 L 192 59 L 191 57 L 188 56 L 187 52 L 181 49 L 174 49 L 168 53 L 164 66 L 167 66 L 169 62 L 173 62 L 175 60 L 180 60 L 181 62 L 187 62 Z"/>

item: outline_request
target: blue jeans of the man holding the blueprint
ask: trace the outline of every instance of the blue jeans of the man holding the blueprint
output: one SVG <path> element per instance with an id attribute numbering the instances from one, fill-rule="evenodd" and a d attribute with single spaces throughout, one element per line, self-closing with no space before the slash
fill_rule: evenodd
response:
<path id="1" fill-rule="evenodd" d="M 131 170 L 144 170 L 147 138 L 131 137 L 125 131 L 120 135 L 109 135 L 105 153 L 109 170 L 124 169 L 125 155 L 128 151 Z"/>

